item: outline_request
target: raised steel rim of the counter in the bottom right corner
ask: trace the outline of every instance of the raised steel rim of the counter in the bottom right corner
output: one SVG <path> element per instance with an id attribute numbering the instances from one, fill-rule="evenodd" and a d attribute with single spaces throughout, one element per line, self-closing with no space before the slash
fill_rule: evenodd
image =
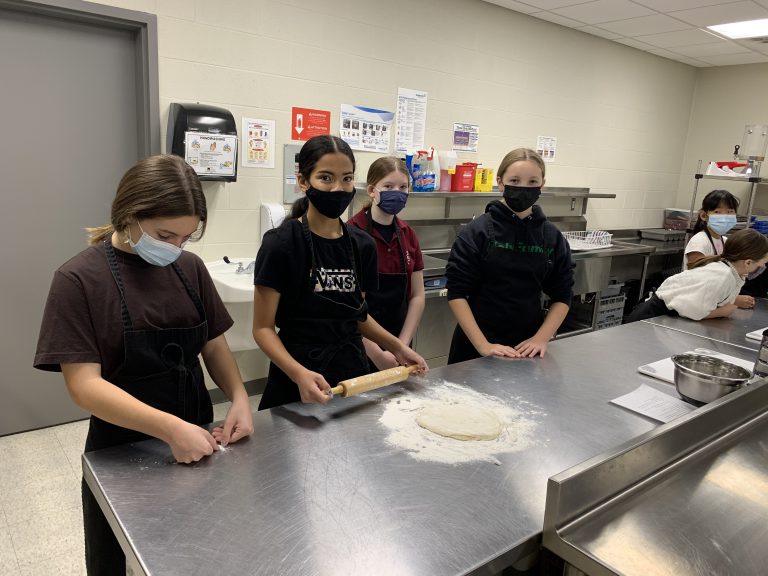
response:
<path id="1" fill-rule="evenodd" d="M 544 510 L 544 547 L 591 576 L 613 575 L 599 559 L 570 541 L 568 533 L 606 507 L 661 482 L 667 472 L 684 465 L 709 444 L 764 416 L 768 406 L 766 384 L 758 380 L 552 476 Z"/>

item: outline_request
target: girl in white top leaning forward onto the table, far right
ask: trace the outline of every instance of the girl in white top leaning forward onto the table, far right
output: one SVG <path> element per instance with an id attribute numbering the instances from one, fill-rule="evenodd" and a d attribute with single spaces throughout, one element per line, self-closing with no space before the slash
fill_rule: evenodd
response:
<path id="1" fill-rule="evenodd" d="M 688 270 L 670 276 L 648 300 L 638 304 L 627 322 L 663 314 L 692 320 L 722 318 L 737 309 L 736 296 L 748 274 L 768 262 L 768 238 L 757 230 L 728 237 L 722 254 L 701 258 Z"/>

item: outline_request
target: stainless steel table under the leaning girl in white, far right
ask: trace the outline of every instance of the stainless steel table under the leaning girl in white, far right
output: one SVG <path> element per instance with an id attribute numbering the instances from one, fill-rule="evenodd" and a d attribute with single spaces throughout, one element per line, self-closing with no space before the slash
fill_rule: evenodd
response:
<path id="1" fill-rule="evenodd" d="M 750 340 L 746 334 L 768 328 L 768 300 L 755 298 L 752 310 L 736 310 L 729 318 L 696 321 L 679 316 L 657 316 L 643 322 L 757 351 L 760 342 Z"/>

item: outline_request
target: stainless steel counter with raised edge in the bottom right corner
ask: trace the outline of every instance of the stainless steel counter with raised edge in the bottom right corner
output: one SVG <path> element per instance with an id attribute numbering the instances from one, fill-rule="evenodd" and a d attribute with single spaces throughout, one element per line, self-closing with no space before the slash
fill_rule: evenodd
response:
<path id="1" fill-rule="evenodd" d="M 550 480 L 544 544 L 592 576 L 765 574 L 768 386 Z"/>

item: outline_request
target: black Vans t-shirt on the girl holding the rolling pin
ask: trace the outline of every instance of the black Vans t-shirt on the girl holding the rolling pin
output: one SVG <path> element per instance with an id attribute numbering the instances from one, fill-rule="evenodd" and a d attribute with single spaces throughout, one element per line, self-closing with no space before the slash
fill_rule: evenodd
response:
<path id="1" fill-rule="evenodd" d="M 354 226 L 347 226 L 354 242 L 359 262 L 353 263 L 348 255 L 348 239 L 329 240 L 312 234 L 317 270 L 314 281 L 310 280 L 311 257 L 309 246 L 298 220 L 286 220 L 278 228 L 264 235 L 256 256 L 254 284 L 268 286 L 281 295 L 275 322 L 292 316 L 296 300 L 302 291 L 314 289 L 334 302 L 354 306 L 360 291 L 378 288 L 376 271 L 376 244 L 373 238 Z M 355 268 L 357 272 L 355 273 Z M 318 290 L 319 288 L 319 290 Z"/>

